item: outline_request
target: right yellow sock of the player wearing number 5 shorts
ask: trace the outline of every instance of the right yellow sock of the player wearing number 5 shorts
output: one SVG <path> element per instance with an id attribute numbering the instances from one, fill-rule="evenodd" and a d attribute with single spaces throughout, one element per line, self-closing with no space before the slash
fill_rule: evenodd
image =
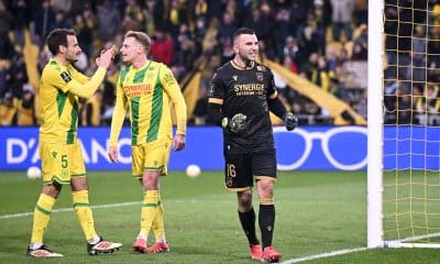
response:
<path id="1" fill-rule="evenodd" d="M 72 200 L 74 202 L 74 210 L 78 217 L 79 224 L 81 226 L 86 240 L 91 240 L 97 237 L 95 231 L 94 215 L 89 206 L 89 191 L 72 191 Z"/>

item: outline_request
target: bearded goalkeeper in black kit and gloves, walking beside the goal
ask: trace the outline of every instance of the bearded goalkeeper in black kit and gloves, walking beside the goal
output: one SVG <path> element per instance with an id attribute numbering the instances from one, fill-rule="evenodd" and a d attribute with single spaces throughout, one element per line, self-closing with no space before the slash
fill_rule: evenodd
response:
<path id="1" fill-rule="evenodd" d="M 282 254 L 272 246 L 276 155 L 270 111 L 282 118 L 289 131 L 298 120 L 278 99 L 271 69 L 255 62 L 258 54 L 255 32 L 242 28 L 232 40 L 235 56 L 212 76 L 208 116 L 223 128 L 224 183 L 228 190 L 237 193 L 239 219 L 249 240 L 251 257 L 278 262 Z M 256 238 L 252 206 L 254 179 L 260 198 L 262 244 Z"/>

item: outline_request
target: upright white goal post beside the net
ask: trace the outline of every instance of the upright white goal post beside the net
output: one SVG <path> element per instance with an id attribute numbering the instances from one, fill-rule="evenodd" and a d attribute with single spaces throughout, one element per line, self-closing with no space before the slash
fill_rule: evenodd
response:
<path id="1" fill-rule="evenodd" d="M 383 245 L 383 0 L 369 1 L 369 87 L 367 87 L 367 248 Z"/>

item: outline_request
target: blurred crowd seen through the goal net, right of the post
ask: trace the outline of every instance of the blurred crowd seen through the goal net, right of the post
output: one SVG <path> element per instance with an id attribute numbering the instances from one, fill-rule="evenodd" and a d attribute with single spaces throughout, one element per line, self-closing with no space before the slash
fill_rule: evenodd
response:
<path id="1" fill-rule="evenodd" d="M 440 125 L 440 1 L 387 0 L 384 14 L 384 122 Z"/>

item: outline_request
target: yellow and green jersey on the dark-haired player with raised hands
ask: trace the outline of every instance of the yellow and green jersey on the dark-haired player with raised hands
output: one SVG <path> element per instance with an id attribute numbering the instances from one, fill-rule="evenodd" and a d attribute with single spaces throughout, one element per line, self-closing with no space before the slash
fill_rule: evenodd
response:
<path id="1" fill-rule="evenodd" d="M 96 75 L 99 75 L 99 78 L 90 84 L 89 78 L 72 65 L 64 66 L 56 59 L 47 63 L 40 80 L 43 119 L 40 141 L 66 144 L 75 141 L 78 127 L 78 97 L 70 90 L 97 88 L 106 75 L 106 69 L 99 68 Z M 85 84 L 91 86 L 84 86 Z"/>

